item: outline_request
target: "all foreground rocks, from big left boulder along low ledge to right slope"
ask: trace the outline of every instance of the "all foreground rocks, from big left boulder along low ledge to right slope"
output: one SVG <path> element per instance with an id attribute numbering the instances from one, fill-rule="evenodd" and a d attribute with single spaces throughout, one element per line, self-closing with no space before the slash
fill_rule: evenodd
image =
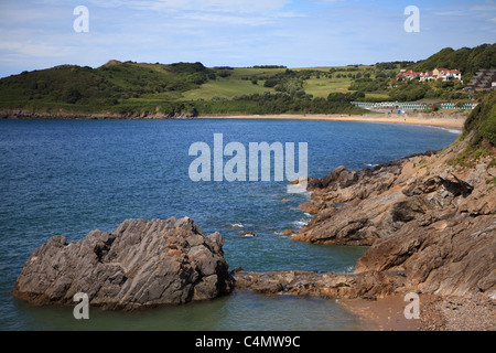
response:
<path id="1" fill-rule="evenodd" d="M 234 289 L 365 300 L 370 308 L 416 292 L 422 298 L 416 329 L 495 330 L 496 148 L 486 143 L 488 153 L 461 163 L 471 139 L 310 179 L 311 202 L 300 208 L 314 216 L 292 239 L 369 246 L 354 274 L 228 274 L 218 233 L 204 235 L 190 218 L 128 220 L 79 242 L 51 238 L 26 261 L 12 295 L 37 304 L 73 304 L 76 292 L 87 292 L 101 309 L 136 310 L 209 300 Z M 390 323 L 377 327 L 397 329 Z"/>

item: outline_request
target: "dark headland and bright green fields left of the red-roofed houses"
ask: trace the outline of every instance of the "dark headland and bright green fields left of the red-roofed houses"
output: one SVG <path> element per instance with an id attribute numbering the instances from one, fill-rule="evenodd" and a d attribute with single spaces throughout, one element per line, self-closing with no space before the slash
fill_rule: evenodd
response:
<path id="1" fill-rule="evenodd" d="M 288 69 L 110 61 L 98 68 L 63 65 L 0 79 L 0 108 L 120 115 L 362 114 L 326 99 L 370 67 Z M 362 74 L 360 74 L 362 75 Z M 333 77 L 334 76 L 334 77 Z"/>

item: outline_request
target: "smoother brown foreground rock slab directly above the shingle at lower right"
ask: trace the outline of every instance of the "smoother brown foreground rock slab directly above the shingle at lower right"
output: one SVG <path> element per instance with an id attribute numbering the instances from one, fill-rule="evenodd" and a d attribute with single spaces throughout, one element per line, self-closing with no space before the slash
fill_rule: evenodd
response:
<path id="1" fill-rule="evenodd" d="M 378 239 L 356 271 L 401 268 L 406 287 L 424 293 L 496 293 L 496 221 L 493 215 L 457 215 L 427 227 L 410 223 Z"/>

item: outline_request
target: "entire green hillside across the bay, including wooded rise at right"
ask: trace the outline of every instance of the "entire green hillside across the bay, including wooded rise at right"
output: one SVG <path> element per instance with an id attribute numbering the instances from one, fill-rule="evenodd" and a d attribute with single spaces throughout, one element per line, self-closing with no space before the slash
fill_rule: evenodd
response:
<path id="1" fill-rule="evenodd" d="M 98 67 L 62 65 L 0 79 L 0 109 L 32 113 L 143 115 L 364 114 L 353 99 L 466 101 L 460 82 L 398 82 L 401 68 L 460 68 L 466 82 L 496 67 L 496 44 L 444 49 L 425 61 L 292 68 L 205 67 L 201 63 L 110 61 Z M 482 94 L 476 98 L 482 98 Z"/>

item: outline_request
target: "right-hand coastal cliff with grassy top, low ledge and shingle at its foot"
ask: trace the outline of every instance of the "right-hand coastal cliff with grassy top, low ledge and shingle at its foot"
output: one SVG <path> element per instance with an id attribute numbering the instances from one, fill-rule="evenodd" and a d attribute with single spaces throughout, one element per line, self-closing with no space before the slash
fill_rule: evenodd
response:
<path id="1" fill-rule="evenodd" d="M 379 330 L 397 330 L 403 296 L 417 292 L 422 314 L 414 330 L 495 330 L 495 141 L 493 93 L 442 151 L 371 170 L 338 167 L 310 179 L 312 201 L 300 208 L 314 216 L 292 239 L 370 246 L 355 272 L 237 270 L 236 288 L 346 299 L 349 310 L 373 318 Z M 359 299 L 368 303 L 353 301 Z"/>

